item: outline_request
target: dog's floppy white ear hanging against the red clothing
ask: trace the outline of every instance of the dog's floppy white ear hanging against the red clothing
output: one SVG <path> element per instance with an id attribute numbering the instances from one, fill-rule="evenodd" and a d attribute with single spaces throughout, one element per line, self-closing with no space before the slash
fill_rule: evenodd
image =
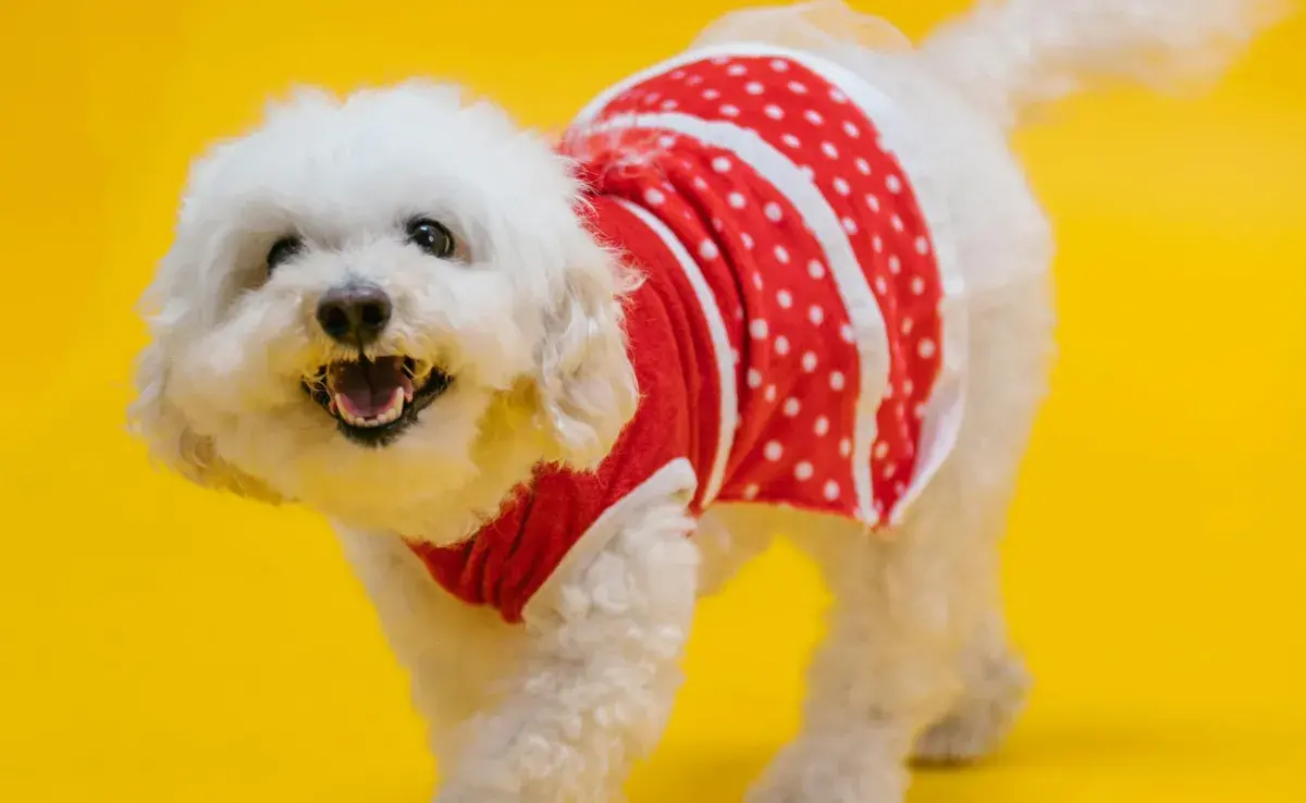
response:
<path id="1" fill-rule="evenodd" d="M 554 460 L 592 469 L 635 414 L 639 390 L 622 329 L 637 277 L 615 253 L 577 230 L 545 320 L 537 388 Z"/>

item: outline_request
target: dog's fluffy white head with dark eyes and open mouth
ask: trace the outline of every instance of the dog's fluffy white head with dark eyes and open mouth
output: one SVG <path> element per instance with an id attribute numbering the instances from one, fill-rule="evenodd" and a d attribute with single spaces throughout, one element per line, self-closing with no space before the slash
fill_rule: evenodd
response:
<path id="1" fill-rule="evenodd" d="M 306 94 L 193 168 L 133 409 L 191 479 L 358 526 L 492 507 L 635 402 L 618 262 L 487 103 Z M 421 534 L 421 533 L 418 533 Z"/>

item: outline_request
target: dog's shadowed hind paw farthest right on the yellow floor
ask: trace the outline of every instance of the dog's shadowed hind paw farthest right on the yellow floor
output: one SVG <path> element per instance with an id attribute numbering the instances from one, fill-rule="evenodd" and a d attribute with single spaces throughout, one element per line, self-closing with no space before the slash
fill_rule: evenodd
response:
<path id="1" fill-rule="evenodd" d="M 912 760 L 923 765 L 965 764 L 991 753 L 1025 708 L 1029 674 L 1016 657 L 987 667 L 948 716 L 916 742 Z"/>

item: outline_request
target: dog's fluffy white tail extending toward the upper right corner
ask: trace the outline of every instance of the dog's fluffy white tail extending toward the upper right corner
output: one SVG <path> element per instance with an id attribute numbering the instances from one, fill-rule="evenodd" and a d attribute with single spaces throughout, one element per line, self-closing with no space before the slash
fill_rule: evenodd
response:
<path id="1" fill-rule="evenodd" d="M 986 114 L 1013 127 L 1101 81 L 1160 89 L 1217 77 L 1293 0 L 982 0 L 918 55 Z"/>

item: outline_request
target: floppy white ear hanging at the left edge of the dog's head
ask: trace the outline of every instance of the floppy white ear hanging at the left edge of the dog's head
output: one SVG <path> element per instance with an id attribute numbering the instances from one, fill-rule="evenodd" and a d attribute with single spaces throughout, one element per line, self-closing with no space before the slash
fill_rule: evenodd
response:
<path id="1" fill-rule="evenodd" d="M 214 490 L 231 491 L 270 504 L 279 504 L 281 495 L 259 479 L 222 460 L 212 437 L 197 433 L 185 414 L 168 398 L 170 367 L 175 359 L 180 333 L 193 311 L 184 302 L 163 302 L 178 265 L 175 252 L 165 259 L 161 274 L 146 292 L 144 306 L 158 300 L 161 311 L 150 316 L 151 342 L 141 353 L 136 367 L 136 400 L 128 407 L 128 424 L 145 441 L 150 457 L 191 482 Z"/>

